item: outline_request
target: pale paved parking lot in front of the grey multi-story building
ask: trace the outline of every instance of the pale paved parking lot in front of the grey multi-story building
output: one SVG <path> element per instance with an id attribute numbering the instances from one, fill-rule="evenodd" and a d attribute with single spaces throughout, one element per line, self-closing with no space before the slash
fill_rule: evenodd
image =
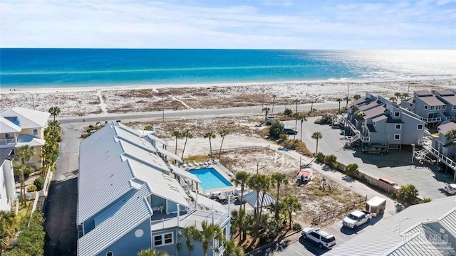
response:
<path id="1" fill-rule="evenodd" d="M 437 171 L 436 166 L 416 166 L 412 164 L 410 149 L 402 151 L 390 150 L 388 154 L 363 154 L 361 148 L 344 149 L 344 137 L 341 129 L 333 129 L 330 125 L 314 124 L 317 117 L 308 118 L 304 122 L 302 134 L 298 122 L 296 136 L 291 139 L 301 139 L 311 151 L 316 151 L 316 140 L 311 138 L 314 132 L 321 132 L 318 140 L 318 151 L 323 154 L 333 154 L 342 164 L 356 163 L 360 171 L 375 178 L 388 178 L 401 186 L 413 184 L 419 190 L 421 198 L 442 198 L 447 196 L 443 188 L 445 182 L 452 183 L 452 176 Z M 284 122 L 286 127 L 294 127 L 295 121 Z M 415 163 L 416 164 L 416 163 Z"/>

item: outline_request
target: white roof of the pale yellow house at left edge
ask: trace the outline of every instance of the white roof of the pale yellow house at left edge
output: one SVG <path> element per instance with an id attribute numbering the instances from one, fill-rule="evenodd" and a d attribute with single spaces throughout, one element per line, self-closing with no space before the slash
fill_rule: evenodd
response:
<path id="1" fill-rule="evenodd" d="M 14 107 L 0 112 L 1 117 L 17 117 L 21 128 L 40 128 L 46 127 L 51 116 L 48 112 L 29 110 L 24 107 Z"/>

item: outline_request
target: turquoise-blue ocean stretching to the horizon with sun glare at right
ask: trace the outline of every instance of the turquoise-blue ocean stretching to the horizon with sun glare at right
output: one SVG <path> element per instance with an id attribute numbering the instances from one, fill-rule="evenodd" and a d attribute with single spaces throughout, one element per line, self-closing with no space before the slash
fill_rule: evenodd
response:
<path id="1" fill-rule="evenodd" d="M 1 90 L 456 77 L 456 50 L 0 49 Z"/>

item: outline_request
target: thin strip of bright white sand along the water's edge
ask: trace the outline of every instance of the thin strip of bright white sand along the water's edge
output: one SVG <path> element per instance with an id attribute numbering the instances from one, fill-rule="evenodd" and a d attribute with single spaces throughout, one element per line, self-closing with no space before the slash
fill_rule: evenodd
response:
<path id="1" fill-rule="evenodd" d="M 350 79 L 340 78 L 327 80 L 288 80 L 288 81 L 265 81 L 265 82 L 208 82 L 208 83 L 176 83 L 176 84 L 128 84 L 128 85 L 97 85 L 97 84 L 86 84 L 86 86 L 59 86 L 57 87 L 14 87 L 14 85 L 1 85 L 5 87 L 0 90 L 0 95 L 10 93 L 53 93 L 53 92 L 88 92 L 95 90 L 142 90 L 142 89 L 166 89 L 166 88 L 201 88 L 201 87 L 243 87 L 243 86 L 270 86 L 270 85 L 309 85 L 314 83 L 322 84 L 363 84 L 363 83 L 380 83 L 380 82 L 424 82 L 424 81 L 435 81 L 435 80 L 456 80 L 456 76 L 439 76 L 435 78 L 402 78 L 402 79 L 373 79 L 373 80 L 361 80 L 361 79 Z M 6 87 L 8 86 L 8 87 Z"/>

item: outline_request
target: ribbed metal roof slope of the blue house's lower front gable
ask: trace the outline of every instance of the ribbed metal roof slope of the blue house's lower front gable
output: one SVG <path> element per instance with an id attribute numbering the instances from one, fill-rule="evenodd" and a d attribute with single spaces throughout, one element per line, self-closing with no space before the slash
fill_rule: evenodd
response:
<path id="1" fill-rule="evenodd" d="M 109 218 L 95 226 L 93 230 L 78 240 L 78 255 L 92 256 L 112 245 L 123 235 L 133 230 L 152 214 L 146 196 L 150 195 L 150 188 L 144 184 L 136 191 L 125 196 L 125 202 L 115 204 L 105 211 Z"/>

